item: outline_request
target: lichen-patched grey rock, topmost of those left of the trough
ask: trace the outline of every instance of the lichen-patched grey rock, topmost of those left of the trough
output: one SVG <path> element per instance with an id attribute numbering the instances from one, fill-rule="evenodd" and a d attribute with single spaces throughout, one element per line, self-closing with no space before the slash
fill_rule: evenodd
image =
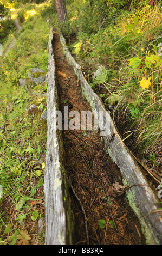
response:
<path id="1" fill-rule="evenodd" d="M 31 68 L 28 69 L 28 76 L 33 83 L 40 84 L 44 82 L 46 78 L 46 72 L 42 69 Z"/>

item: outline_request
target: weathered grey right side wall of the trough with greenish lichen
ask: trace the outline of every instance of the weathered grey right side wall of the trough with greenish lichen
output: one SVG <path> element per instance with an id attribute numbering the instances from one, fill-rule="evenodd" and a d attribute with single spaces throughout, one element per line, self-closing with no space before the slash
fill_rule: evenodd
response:
<path id="1" fill-rule="evenodd" d="M 73 66 L 74 72 L 78 79 L 81 81 L 82 94 L 86 100 L 90 103 L 92 111 L 96 113 L 98 118 L 99 111 L 105 112 L 105 107 L 101 102 L 101 99 L 96 95 L 93 89 L 89 86 L 85 77 L 81 72 L 79 64 L 77 64 L 66 47 L 66 40 L 60 34 L 61 44 L 63 46 L 63 52 L 70 65 Z M 162 213 L 160 211 L 150 214 L 151 211 L 157 210 L 157 203 L 159 198 L 155 194 L 152 188 L 142 174 L 134 157 L 131 155 L 129 149 L 118 134 L 113 120 L 110 117 L 109 112 L 106 112 L 107 120 L 109 122 L 109 133 L 104 136 L 107 151 L 112 160 L 120 168 L 124 185 L 145 184 L 147 186 L 135 186 L 127 191 L 127 198 L 129 205 L 132 207 L 135 214 L 138 216 L 142 231 L 146 237 L 146 242 L 150 244 L 162 243 Z M 113 142 L 109 142 L 111 135 L 115 133 Z M 119 144 L 120 142 L 120 144 Z"/>

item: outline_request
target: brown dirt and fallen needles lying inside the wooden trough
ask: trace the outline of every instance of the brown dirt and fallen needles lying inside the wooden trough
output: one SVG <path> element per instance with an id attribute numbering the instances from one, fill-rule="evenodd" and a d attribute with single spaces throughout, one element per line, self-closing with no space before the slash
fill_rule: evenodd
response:
<path id="1" fill-rule="evenodd" d="M 68 106 L 69 112 L 91 110 L 82 97 L 73 68 L 64 57 L 57 33 L 54 33 L 53 49 L 60 110 L 63 113 L 64 106 Z M 72 182 L 74 244 L 145 244 L 139 220 L 129 207 L 126 194 L 108 196 L 108 188 L 115 181 L 122 185 L 122 180 L 119 168 L 105 152 L 100 131 L 63 130 L 63 141 L 66 169 Z M 103 227 L 99 227 L 99 220 L 105 220 Z"/>

